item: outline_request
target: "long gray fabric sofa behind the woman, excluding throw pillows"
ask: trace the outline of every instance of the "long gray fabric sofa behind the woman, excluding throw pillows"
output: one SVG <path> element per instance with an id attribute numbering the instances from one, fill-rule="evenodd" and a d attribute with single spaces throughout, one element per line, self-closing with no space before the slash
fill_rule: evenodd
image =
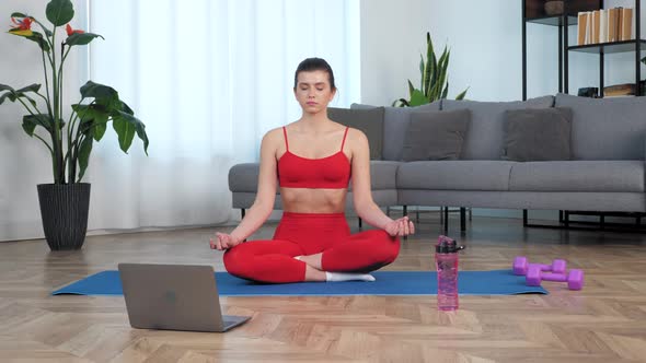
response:
<path id="1" fill-rule="evenodd" d="M 372 106 L 351 106 L 367 107 Z M 572 159 L 501 160 L 505 112 L 547 107 L 572 109 Z M 460 160 L 401 161 L 411 113 L 455 109 L 471 112 Z M 646 211 L 646 97 L 557 94 L 524 102 L 442 99 L 413 108 L 385 107 L 383 134 L 382 160 L 371 161 L 372 194 L 380 207 Z M 257 175 L 256 163 L 229 172 L 232 206 L 243 213 L 254 201 Z M 281 208 L 280 198 L 275 208 Z"/>

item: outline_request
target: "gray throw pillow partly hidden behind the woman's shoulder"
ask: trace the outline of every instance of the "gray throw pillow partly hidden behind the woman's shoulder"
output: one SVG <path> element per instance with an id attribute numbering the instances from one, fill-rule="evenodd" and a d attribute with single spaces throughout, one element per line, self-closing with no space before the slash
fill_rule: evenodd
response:
<path id="1" fill-rule="evenodd" d="M 366 133 L 370 145 L 370 160 L 381 160 L 383 153 L 383 107 L 350 109 L 327 107 L 327 117 L 338 124 Z"/>

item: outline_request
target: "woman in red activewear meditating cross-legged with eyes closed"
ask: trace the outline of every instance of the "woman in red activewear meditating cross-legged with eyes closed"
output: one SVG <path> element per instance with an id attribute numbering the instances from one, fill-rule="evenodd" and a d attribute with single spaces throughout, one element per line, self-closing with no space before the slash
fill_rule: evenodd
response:
<path id="1" fill-rule="evenodd" d="M 372 200 L 366 134 L 327 118 L 336 93 L 330 65 L 303 60 L 293 93 L 302 117 L 263 137 L 256 199 L 240 224 L 230 234 L 216 233 L 210 246 L 226 249 L 227 271 L 247 280 L 373 281 L 368 272 L 394 261 L 413 222 L 390 219 Z M 344 213 L 350 175 L 357 214 L 379 230 L 350 234 Z M 242 243 L 269 216 L 277 187 L 284 213 L 274 238 Z"/>

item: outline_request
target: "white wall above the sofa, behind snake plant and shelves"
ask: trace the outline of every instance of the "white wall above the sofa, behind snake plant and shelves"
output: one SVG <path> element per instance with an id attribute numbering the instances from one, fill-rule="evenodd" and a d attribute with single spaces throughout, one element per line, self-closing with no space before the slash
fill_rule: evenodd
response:
<path id="1" fill-rule="evenodd" d="M 605 7 L 634 7 L 633 0 Z M 643 7 L 646 7 L 644 4 Z M 642 35 L 646 34 L 642 10 Z M 451 49 L 449 98 L 470 87 L 468 98 L 522 97 L 521 2 L 509 0 L 366 0 L 361 2 L 361 102 L 390 105 L 406 97 L 406 79 L 419 82 L 419 54 L 430 32 L 436 54 Z M 575 39 L 576 26 L 569 31 Z M 555 26 L 528 24 L 528 97 L 558 91 L 558 33 Z M 570 43 L 573 44 L 573 43 Z M 598 85 L 598 56 L 569 52 L 569 93 Z M 634 82 L 634 54 L 607 55 L 605 85 Z M 642 68 L 643 78 L 646 67 Z"/>

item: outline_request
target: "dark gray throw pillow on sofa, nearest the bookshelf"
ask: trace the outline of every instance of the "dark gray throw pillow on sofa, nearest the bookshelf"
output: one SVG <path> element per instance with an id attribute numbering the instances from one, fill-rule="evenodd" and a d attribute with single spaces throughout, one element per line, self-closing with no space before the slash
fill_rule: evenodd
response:
<path id="1" fill-rule="evenodd" d="M 572 109 L 505 112 L 503 159 L 517 162 L 570 160 Z"/>

